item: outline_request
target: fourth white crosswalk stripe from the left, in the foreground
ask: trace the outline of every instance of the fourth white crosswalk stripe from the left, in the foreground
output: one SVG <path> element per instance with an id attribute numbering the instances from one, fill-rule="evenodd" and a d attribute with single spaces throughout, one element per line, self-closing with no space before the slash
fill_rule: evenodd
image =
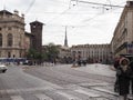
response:
<path id="1" fill-rule="evenodd" d="M 79 93 L 83 93 L 83 94 L 86 94 L 89 96 L 90 98 L 99 98 L 99 97 L 102 97 L 101 94 L 95 94 L 95 93 L 92 93 L 90 91 L 85 91 L 85 90 L 82 90 L 82 89 L 78 89 L 78 90 L 74 90 Z"/>

